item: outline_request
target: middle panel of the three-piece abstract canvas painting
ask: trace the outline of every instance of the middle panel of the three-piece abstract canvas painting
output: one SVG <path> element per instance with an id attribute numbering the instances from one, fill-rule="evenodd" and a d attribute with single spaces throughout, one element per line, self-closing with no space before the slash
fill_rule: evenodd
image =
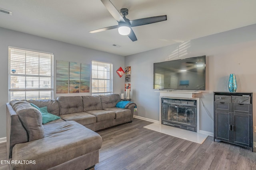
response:
<path id="1" fill-rule="evenodd" d="M 80 92 L 80 63 L 69 63 L 69 93 Z"/>

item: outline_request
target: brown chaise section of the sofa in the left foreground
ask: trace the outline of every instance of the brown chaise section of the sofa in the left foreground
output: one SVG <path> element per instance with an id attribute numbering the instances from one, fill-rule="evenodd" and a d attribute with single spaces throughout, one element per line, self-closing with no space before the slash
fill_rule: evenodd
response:
<path id="1" fill-rule="evenodd" d="M 44 102 L 38 106 L 49 104 L 49 101 Z M 102 146 L 98 133 L 75 121 L 42 125 L 41 113 L 26 101 L 11 101 L 6 106 L 9 159 L 34 161 L 32 164 L 10 164 L 10 169 L 84 170 L 98 163 Z"/>

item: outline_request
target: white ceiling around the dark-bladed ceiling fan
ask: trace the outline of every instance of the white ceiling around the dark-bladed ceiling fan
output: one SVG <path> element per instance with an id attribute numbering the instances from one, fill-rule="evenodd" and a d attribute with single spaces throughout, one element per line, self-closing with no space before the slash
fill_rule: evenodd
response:
<path id="1" fill-rule="evenodd" d="M 0 0 L 0 27 L 122 56 L 212 35 L 256 23 L 256 0 L 110 0 L 126 18 L 167 15 L 167 21 L 133 27 L 138 41 L 117 29 L 100 0 Z M 121 47 L 114 47 L 113 44 Z"/>

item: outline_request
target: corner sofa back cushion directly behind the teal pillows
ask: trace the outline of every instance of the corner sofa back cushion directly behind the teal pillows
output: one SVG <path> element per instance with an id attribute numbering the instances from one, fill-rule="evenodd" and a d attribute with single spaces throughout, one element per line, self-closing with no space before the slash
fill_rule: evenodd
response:
<path id="1" fill-rule="evenodd" d="M 26 100 L 28 103 L 32 103 L 37 107 L 47 107 L 49 113 L 54 115 L 60 115 L 60 109 L 56 100 Z"/>

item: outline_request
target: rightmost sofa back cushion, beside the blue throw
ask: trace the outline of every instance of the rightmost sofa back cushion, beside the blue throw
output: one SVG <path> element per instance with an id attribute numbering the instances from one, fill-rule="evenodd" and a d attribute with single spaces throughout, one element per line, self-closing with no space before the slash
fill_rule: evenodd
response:
<path id="1" fill-rule="evenodd" d="M 121 98 L 119 94 L 100 95 L 102 109 L 116 107 Z"/>

